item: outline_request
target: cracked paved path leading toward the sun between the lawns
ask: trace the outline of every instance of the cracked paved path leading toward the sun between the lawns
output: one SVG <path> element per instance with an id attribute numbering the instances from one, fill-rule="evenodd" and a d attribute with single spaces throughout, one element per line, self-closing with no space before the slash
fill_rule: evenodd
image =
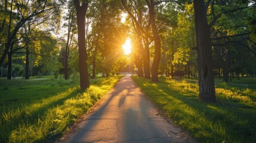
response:
<path id="1" fill-rule="evenodd" d="M 156 95 L 157 96 L 157 95 Z M 195 142 L 159 116 L 130 76 L 123 77 L 60 142 Z"/>

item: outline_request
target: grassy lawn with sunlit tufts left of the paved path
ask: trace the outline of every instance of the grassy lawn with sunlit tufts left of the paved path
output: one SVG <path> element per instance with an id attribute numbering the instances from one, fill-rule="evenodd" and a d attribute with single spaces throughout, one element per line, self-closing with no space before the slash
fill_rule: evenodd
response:
<path id="1" fill-rule="evenodd" d="M 0 142 L 52 142 L 121 78 L 0 80 Z"/>

